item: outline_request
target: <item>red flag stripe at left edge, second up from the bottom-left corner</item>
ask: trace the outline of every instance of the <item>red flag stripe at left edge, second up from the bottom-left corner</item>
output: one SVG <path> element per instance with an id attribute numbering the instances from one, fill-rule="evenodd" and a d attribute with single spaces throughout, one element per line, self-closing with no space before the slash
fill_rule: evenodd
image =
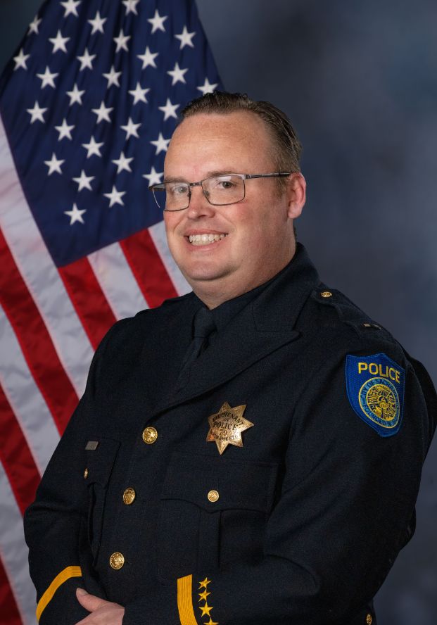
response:
<path id="1" fill-rule="evenodd" d="M 0 460 L 21 514 L 24 514 L 27 506 L 35 498 L 40 476 L 20 424 L 18 424 L 1 386 Z"/>

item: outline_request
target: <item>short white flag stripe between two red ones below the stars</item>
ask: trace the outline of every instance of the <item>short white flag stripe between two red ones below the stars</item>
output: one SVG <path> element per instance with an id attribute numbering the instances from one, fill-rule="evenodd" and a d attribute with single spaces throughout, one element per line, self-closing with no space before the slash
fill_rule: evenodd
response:
<path id="1" fill-rule="evenodd" d="M 88 260 L 117 319 L 148 308 L 118 243 L 89 254 Z"/>

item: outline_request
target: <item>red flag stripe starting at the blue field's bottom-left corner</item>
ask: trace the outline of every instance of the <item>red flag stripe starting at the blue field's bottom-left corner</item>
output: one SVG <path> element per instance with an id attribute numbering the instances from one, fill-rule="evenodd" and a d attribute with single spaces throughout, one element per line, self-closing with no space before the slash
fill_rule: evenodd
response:
<path id="1" fill-rule="evenodd" d="M 58 269 L 94 349 L 117 321 L 87 258 Z"/>

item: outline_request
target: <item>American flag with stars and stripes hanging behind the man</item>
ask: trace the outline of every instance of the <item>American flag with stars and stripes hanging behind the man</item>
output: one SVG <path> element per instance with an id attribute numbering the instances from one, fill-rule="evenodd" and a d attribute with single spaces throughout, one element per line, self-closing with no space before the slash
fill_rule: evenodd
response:
<path id="1" fill-rule="evenodd" d="M 188 290 L 147 187 L 180 108 L 217 87 L 189 0 L 46 1 L 1 78 L 4 624 L 35 622 L 23 512 L 96 346 L 116 320 Z"/>

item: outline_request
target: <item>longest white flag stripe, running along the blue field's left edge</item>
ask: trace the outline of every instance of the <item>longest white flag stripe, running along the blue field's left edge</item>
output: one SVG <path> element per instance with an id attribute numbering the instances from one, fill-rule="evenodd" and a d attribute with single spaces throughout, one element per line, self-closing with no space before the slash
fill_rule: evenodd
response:
<path id="1" fill-rule="evenodd" d="M 34 222 L 0 118 L 0 227 L 77 394 L 84 391 L 93 349 Z"/>

